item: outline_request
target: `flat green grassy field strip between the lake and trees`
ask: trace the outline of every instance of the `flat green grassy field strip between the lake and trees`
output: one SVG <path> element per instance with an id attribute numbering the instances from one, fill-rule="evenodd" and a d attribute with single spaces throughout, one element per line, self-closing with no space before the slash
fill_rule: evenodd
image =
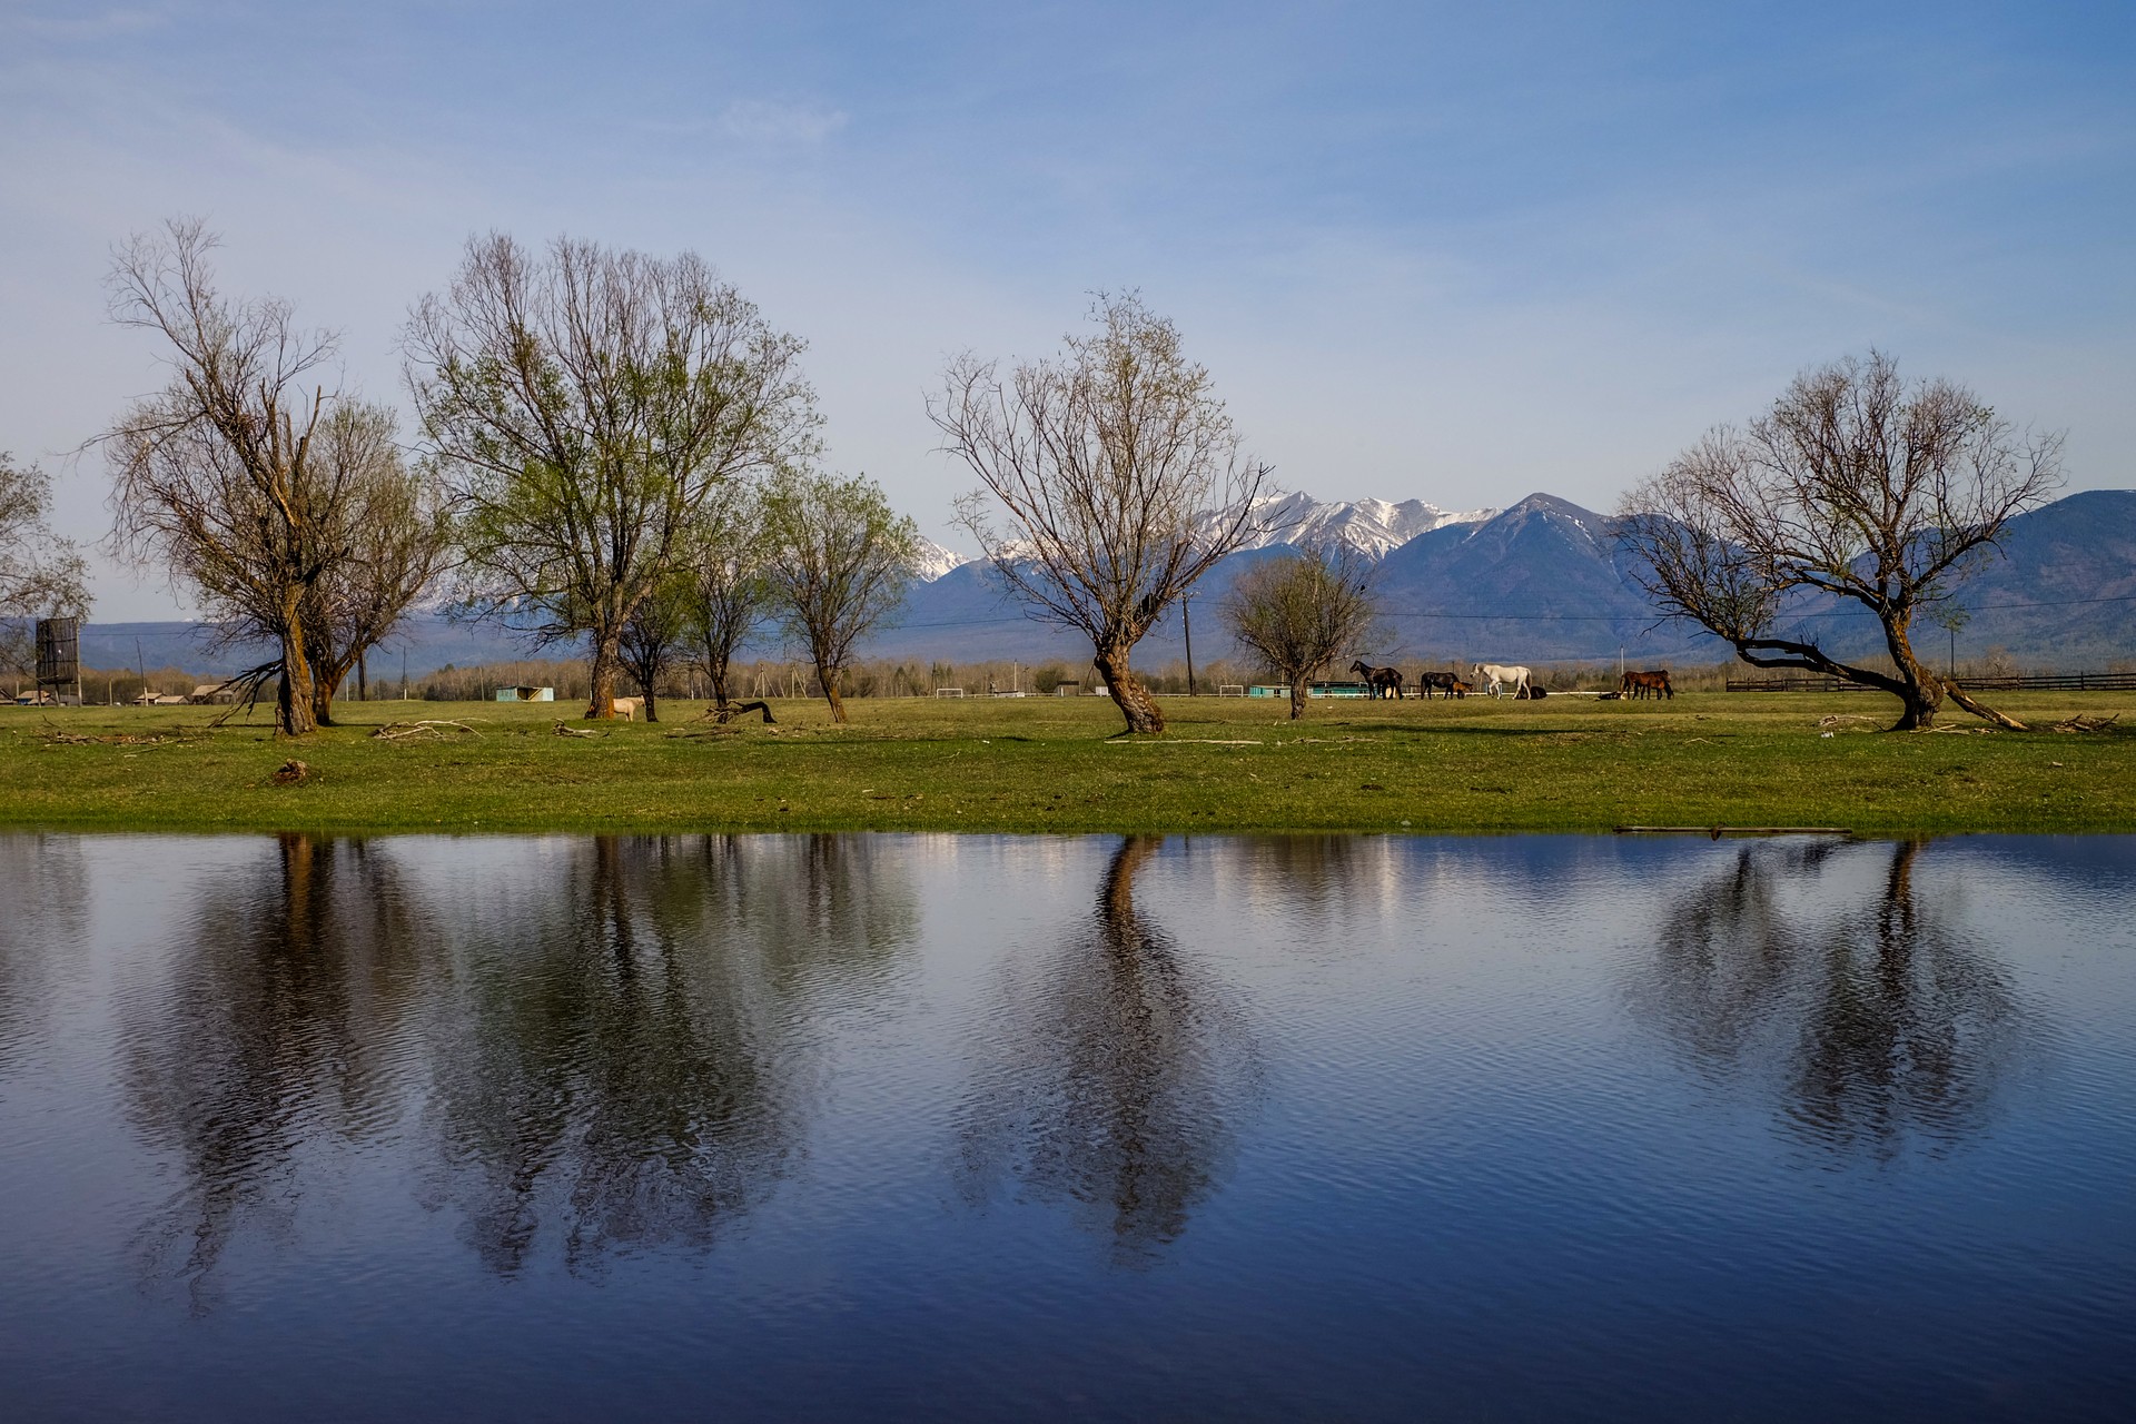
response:
<path id="1" fill-rule="evenodd" d="M 2044 726 L 2136 694 L 2006 694 Z M 1166 698 L 1115 737 L 1100 698 L 778 702 L 716 734 L 703 705 L 560 737 L 572 707 L 346 702 L 301 743 L 209 709 L 0 709 L 0 826 L 73 830 L 1606 830 L 1617 824 L 2136 830 L 2130 732 L 1878 734 L 1869 694 L 1675 702 Z M 472 732 L 382 741 L 393 719 Z M 1824 717 L 1852 717 L 1822 724 Z M 1831 734 L 1826 734 L 1831 732 Z M 310 775 L 278 786 L 303 758 Z"/>

